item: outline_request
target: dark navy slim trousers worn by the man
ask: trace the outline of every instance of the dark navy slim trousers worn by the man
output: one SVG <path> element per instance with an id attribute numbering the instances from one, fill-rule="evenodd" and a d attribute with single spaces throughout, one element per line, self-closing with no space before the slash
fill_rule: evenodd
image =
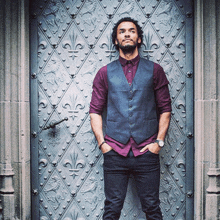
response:
<path id="1" fill-rule="evenodd" d="M 103 220 L 117 220 L 123 208 L 128 180 L 133 174 L 148 220 L 161 220 L 159 201 L 160 162 L 159 155 L 150 151 L 134 157 L 132 151 L 123 157 L 111 150 L 104 154 L 105 208 Z"/>

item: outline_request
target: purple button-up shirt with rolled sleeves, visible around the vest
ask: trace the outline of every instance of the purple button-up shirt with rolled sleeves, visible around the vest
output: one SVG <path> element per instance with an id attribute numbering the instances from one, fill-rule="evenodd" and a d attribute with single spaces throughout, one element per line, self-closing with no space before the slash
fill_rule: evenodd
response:
<path id="1" fill-rule="evenodd" d="M 139 60 L 139 55 L 130 61 L 122 57 L 119 57 L 119 61 L 122 65 L 124 74 L 130 85 L 137 71 Z M 166 78 L 163 68 L 159 64 L 154 63 L 153 74 L 157 111 L 159 114 L 162 114 L 164 112 L 171 112 L 171 99 L 168 89 L 169 82 Z M 92 100 L 90 102 L 89 113 L 96 113 L 101 115 L 103 113 L 104 107 L 107 106 L 107 96 L 107 66 L 104 66 L 98 71 L 93 82 Z M 109 144 L 120 155 L 127 156 L 130 149 L 132 149 L 135 157 L 146 153 L 146 151 L 141 153 L 140 150 L 147 144 L 153 143 L 156 140 L 156 138 L 157 133 L 145 140 L 144 142 L 142 142 L 141 144 L 136 144 L 134 139 L 131 137 L 127 144 L 122 144 L 112 139 L 108 135 L 105 135 L 106 143 Z"/>

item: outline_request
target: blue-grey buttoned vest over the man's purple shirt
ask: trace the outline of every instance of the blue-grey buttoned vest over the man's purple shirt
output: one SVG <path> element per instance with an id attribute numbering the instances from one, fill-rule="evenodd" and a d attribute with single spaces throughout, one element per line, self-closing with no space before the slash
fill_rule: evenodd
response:
<path id="1" fill-rule="evenodd" d="M 141 58 L 129 86 L 119 60 L 107 65 L 106 134 L 120 143 L 133 137 L 140 144 L 158 131 L 153 68 L 153 62 Z"/>

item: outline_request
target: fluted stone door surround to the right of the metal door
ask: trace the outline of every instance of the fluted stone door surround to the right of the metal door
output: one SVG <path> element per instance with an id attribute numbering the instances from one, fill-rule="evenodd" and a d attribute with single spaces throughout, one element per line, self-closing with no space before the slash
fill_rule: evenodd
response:
<path id="1" fill-rule="evenodd" d="M 220 219 L 218 0 L 195 1 L 195 219 Z"/>

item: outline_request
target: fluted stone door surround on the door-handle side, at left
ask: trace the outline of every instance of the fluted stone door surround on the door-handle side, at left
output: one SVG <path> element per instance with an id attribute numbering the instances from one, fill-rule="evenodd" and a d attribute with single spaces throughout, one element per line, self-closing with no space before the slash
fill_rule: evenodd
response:
<path id="1" fill-rule="evenodd" d="M 30 219 L 28 1 L 0 1 L 0 199 L 3 219 Z"/>

